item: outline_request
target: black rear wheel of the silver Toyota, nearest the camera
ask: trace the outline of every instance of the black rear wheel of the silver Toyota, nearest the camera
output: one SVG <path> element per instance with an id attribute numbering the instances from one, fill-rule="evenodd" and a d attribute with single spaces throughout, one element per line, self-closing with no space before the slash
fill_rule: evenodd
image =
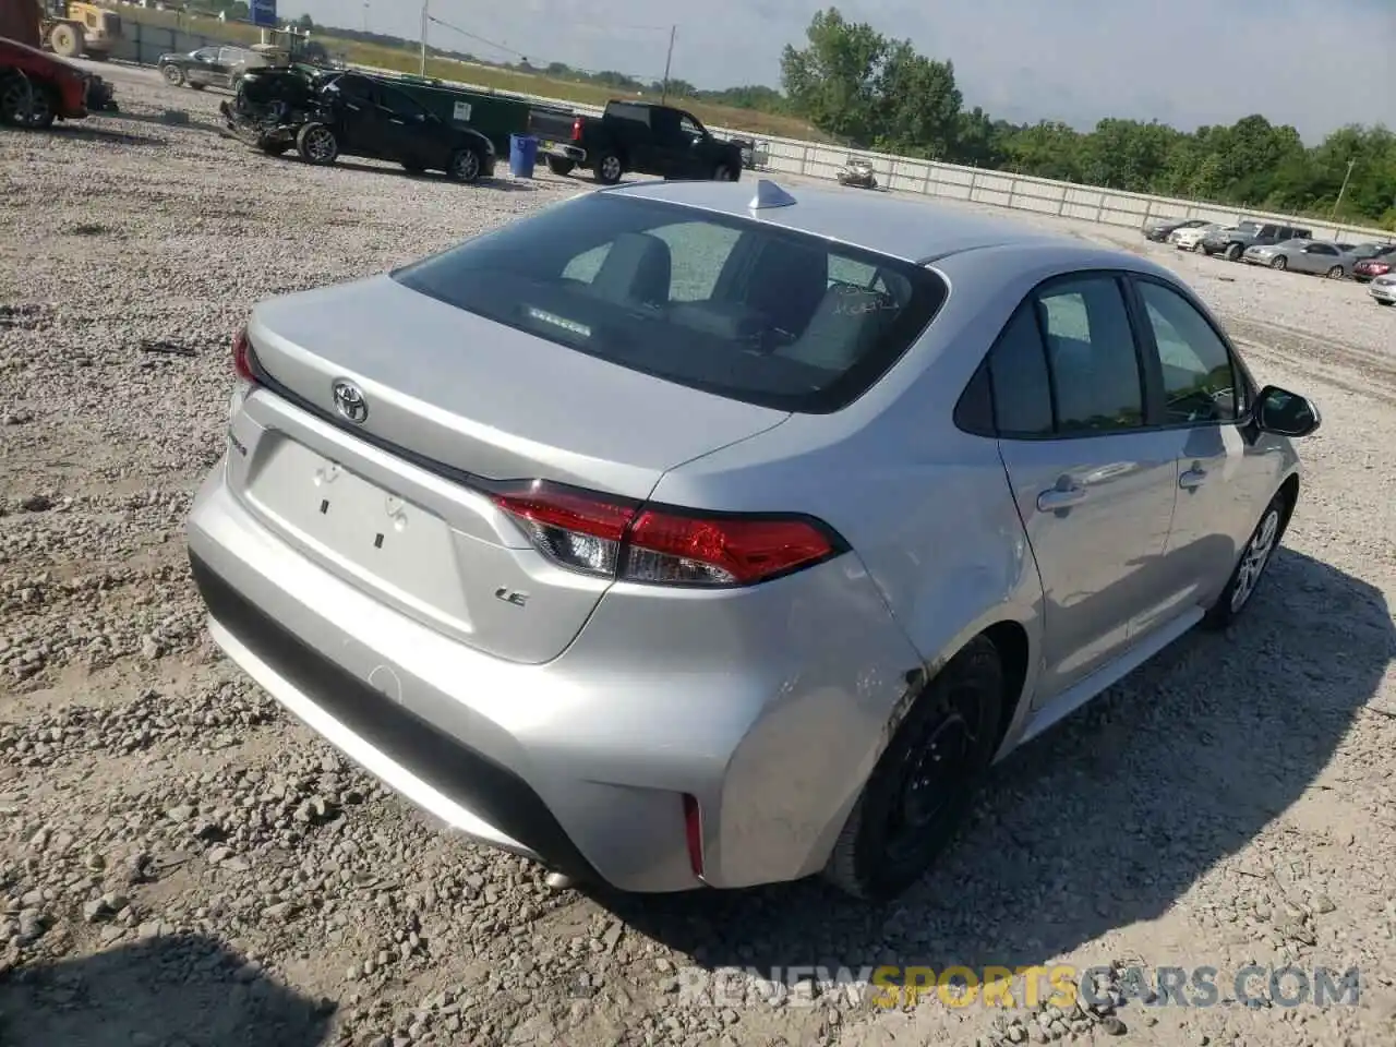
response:
<path id="1" fill-rule="evenodd" d="M 976 637 L 926 684 L 863 786 L 824 875 L 889 900 L 946 849 L 998 745 L 1004 666 Z"/>

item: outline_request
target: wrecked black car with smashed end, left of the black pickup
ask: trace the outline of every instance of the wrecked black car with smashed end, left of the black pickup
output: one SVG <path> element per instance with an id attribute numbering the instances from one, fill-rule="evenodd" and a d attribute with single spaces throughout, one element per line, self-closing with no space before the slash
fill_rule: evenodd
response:
<path id="1" fill-rule="evenodd" d="M 309 163 L 366 156 L 409 172 L 473 183 L 494 173 L 490 140 L 452 126 L 385 78 L 307 66 L 250 70 L 219 106 L 229 133 L 262 152 L 295 149 Z"/>

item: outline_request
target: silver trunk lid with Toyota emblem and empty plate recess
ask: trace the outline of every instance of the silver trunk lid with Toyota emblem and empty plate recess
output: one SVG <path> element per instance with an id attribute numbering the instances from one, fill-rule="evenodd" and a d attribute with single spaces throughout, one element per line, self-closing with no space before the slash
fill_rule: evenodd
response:
<path id="1" fill-rule="evenodd" d="M 497 482 L 645 498 L 667 469 L 789 417 L 388 276 L 262 303 L 248 339 L 278 395 L 254 394 L 235 417 L 239 497 L 338 577 L 519 662 L 561 653 L 609 584 L 546 564 L 490 500 Z"/>

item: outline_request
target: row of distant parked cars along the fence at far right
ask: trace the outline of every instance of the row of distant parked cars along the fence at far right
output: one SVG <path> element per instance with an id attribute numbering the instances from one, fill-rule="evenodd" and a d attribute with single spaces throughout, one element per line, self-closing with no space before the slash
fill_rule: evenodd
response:
<path id="1" fill-rule="evenodd" d="M 1396 300 L 1396 243 L 1315 240 L 1311 229 L 1295 225 L 1245 221 L 1227 226 L 1202 218 L 1149 219 L 1141 232 L 1146 240 L 1170 243 L 1180 251 L 1371 283 L 1378 304 Z"/>

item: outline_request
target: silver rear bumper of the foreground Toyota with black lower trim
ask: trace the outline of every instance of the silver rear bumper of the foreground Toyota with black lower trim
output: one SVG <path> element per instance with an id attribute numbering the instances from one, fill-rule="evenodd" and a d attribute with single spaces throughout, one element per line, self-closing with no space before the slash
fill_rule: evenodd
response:
<path id="1" fill-rule="evenodd" d="M 187 522 L 223 652 L 456 831 L 623 891 L 822 868 L 920 663 L 850 556 L 723 604 L 606 596 L 553 662 L 505 662 L 309 560 L 223 475 Z"/>

